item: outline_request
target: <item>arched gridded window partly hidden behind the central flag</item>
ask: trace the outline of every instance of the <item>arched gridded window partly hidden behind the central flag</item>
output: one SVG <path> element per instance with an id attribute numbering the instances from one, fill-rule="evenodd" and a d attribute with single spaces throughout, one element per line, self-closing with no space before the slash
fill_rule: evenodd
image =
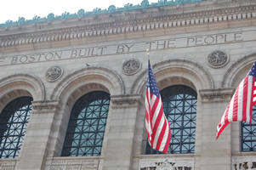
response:
<path id="1" fill-rule="evenodd" d="M 172 154 L 195 152 L 197 94 L 192 88 L 175 85 L 161 92 L 162 106 L 171 127 L 169 151 Z M 146 154 L 159 154 L 147 145 Z"/>

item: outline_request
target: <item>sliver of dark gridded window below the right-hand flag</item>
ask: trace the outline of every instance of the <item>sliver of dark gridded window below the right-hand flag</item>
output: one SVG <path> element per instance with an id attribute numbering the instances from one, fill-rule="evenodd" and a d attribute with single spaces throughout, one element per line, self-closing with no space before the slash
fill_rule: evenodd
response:
<path id="1" fill-rule="evenodd" d="M 253 106 L 253 118 L 251 125 L 241 122 L 242 127 L 242 151 L 256 151 L 256 106 Z"/>

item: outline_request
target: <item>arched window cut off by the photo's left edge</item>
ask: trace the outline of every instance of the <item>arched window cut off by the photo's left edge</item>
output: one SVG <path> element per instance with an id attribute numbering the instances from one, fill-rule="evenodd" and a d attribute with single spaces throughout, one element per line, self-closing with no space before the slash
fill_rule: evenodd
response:
<path id="1" fill-rule="evenodd" d="M 0 115 L 0 157 L 15 158 L 20 154 L 27 122 L 31 116 L 31 97 L 14 99 Z"/>

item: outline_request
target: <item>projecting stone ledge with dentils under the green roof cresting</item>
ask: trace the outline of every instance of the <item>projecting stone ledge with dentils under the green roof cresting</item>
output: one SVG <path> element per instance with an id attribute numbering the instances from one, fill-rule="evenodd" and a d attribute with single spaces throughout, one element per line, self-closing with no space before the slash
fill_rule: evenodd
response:
<path id="1" fill-rule="evenodd" d="M 148 14 L 134 20 L 117 19 L 105 20 L 104 23 L 88 23 L 85 26 L 65 27 L 45 31 L 32 31 L 0 37 L 0 48 L 14 47 L 22 44 L 36 44 L 42 42 L 60 42 L 84 38 L 105 37 L 113 34 L 134 33 L 139 31 L 156 31 L 158 29 L 176 29 L 184 26 L 199 26 L 217 24 L 234 20 L 253 20 L 256 18 L 256 3 L 242 3 L 222 7 L 208 7 L 201 9 L 187 9 L 157 14 Z M 185 12 L 185 13 L 184 13 Z M 119 21 L 120 20 L 120 21 Z M 145 21 L 146 20 L 146 21 Z M 106 27 L 105 25 L 108 25 Z M 36 29 L 36 28 L 35 28 Z"/>

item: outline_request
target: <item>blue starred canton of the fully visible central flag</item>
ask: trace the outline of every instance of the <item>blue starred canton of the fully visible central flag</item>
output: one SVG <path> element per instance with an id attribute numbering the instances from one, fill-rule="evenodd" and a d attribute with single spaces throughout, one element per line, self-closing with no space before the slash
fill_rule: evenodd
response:
<path id="1" fill-rule="evenodd" d="M 156 78 L 154 77 L 153 71 L 151 69 L 151 62 L 149 60 L 148 65 L 148 75 L 147 75 L 147 82 L 146 82 L 146 89 L 150 88 L 151 94 L 156 95 L 159 98 L 159 88 L 157 86 Z"/>

